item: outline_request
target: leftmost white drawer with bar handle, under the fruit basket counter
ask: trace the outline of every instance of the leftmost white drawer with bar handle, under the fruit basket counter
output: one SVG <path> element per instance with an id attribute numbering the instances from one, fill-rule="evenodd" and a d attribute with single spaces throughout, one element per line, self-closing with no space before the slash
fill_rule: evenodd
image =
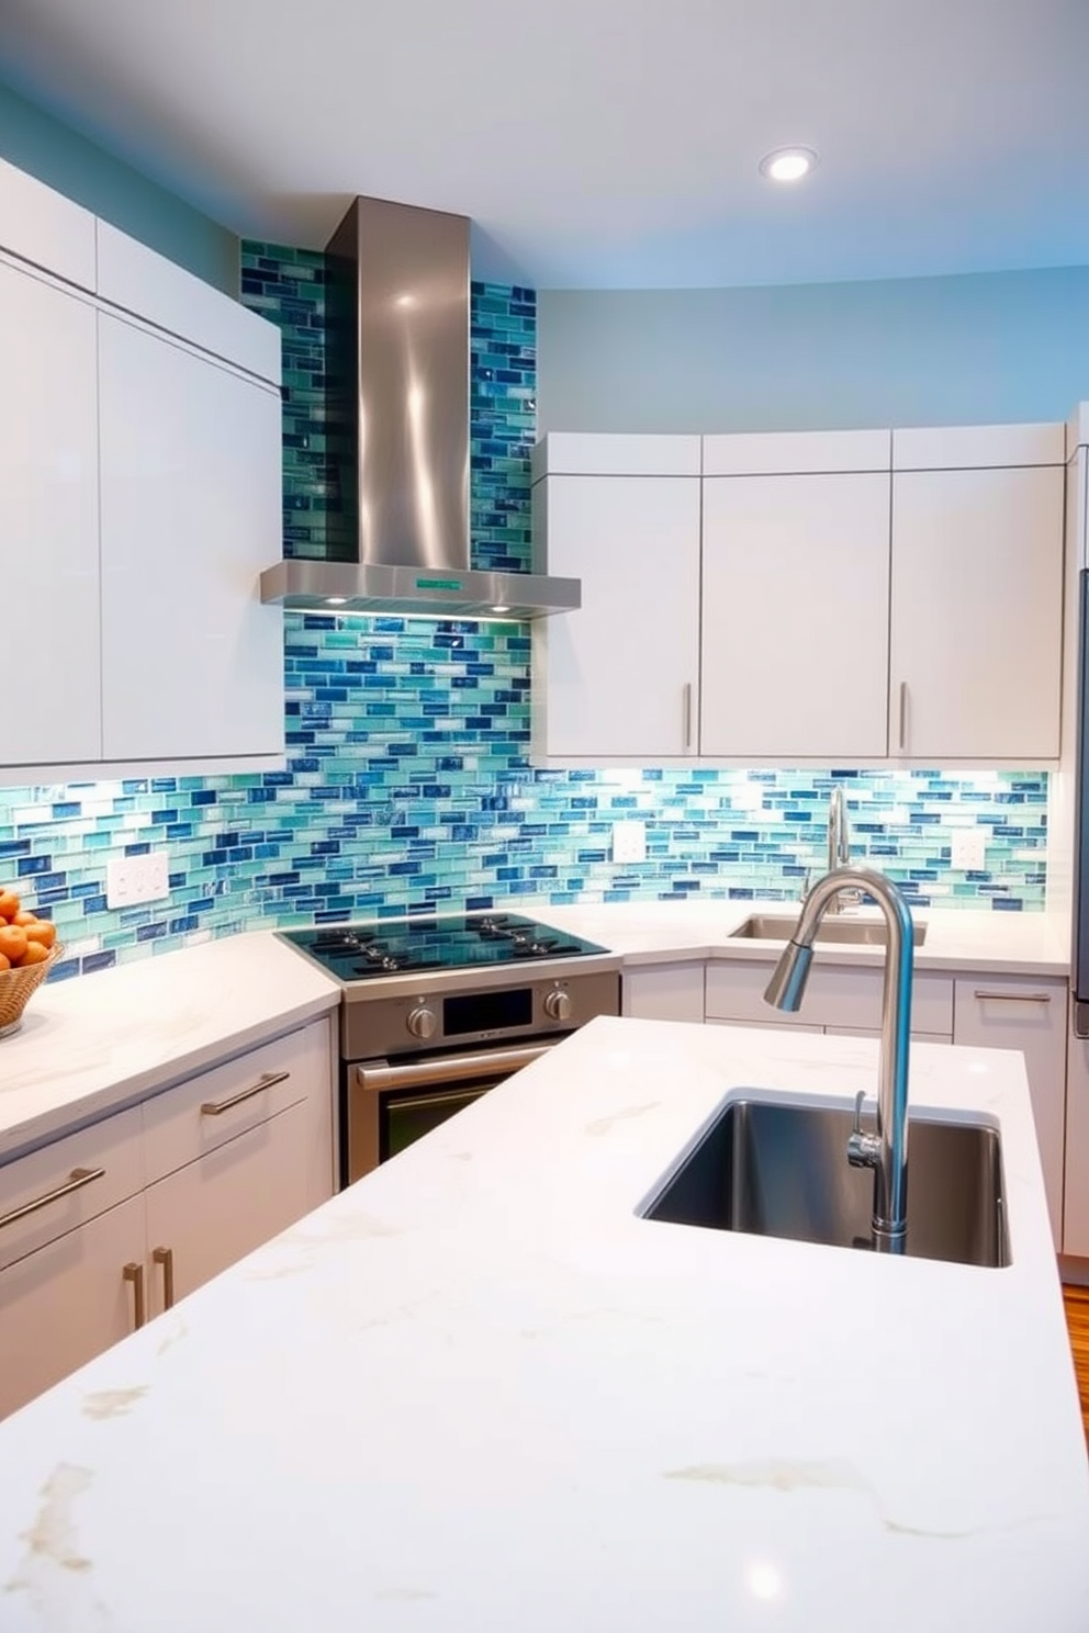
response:
<path id="1" fill-rule="evenodd" d="M 142 1187 L 139 1106 L 5 1163 L 0 1168 L 0 1270 Z"/>

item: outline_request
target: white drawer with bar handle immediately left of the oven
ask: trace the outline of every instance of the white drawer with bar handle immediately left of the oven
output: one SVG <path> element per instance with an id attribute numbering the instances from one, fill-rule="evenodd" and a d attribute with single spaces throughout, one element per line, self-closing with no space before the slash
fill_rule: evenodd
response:
<path id="1" fill-rule="evenodd" d="M 268 1122 L 315 1088 L 328 1094 L 323 1037 L 322 1027 L 289 1032 L 145 1101 L 147 1184 Z"/>

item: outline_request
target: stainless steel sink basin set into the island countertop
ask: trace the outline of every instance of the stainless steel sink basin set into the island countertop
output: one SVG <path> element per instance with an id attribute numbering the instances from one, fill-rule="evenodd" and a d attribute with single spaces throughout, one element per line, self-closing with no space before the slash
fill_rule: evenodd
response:
<path id="1" fill-rule="evenodd" d="M 873 1251 L 873 1179 L 847 1163 L 851 1110 L 730 1101 L 640 1208 L 669 1225 Z M 1009 1264 L 1001 1141 L 983 1124 L 908 1119 L 905 1253 Z"/>

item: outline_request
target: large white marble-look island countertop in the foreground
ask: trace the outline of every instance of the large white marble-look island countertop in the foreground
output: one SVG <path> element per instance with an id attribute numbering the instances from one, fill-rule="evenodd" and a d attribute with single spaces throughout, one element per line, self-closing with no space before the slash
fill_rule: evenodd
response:
<path id="1" fill-rule="evenodd" d="M 725 1096 L 875 1065 L 591 1022 L 0 1424 L 5 1633 L 1084 1633 L 1016 1055 L 913 1050 L 1001 1130 L 1006 1269 L 637 1217 Z"/>

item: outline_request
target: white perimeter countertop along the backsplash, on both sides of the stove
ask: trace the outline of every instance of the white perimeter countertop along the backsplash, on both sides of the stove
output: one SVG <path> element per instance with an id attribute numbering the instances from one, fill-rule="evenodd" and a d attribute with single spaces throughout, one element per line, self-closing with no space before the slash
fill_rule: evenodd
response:
<path id="1" fill-rule="evenodd" d="M 638 967 L 676 960 L 772 960 L 777 942 L 731 939 L 759 911 L 790 903 L 504 903 L 596 941 Z M 867 916 L 865 910 L 857 916 Z M 869 910 L 869 916 L 877 916 Z M 924 913 L 919 970 L 1066 975 L 1068 952 L 1043 913 Z M 836 963 L 880 965 L 880 947 L 818 949 Z M 0 1039 L 0 1159 L 131 1104 L 336 1006 L 340 988 L 271 931 L 230 936 L 77 980 L 47 981 L 23 1027 Z"/>

